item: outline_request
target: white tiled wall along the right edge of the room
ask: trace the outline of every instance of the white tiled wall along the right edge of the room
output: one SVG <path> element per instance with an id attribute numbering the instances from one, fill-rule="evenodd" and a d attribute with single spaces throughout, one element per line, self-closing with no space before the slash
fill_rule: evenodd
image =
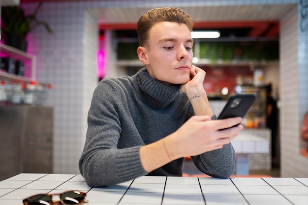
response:
<path id="1" fill-rule="evenodd" d="M 308 111 L 308 30 L 303 32 L 300 29 L 300 10 L 299 5 L 280 23 L 280 146 L 283 177 L 308 176 L 308 159 L 300 154 L 300 148 L 304 146 L 300 129 L 304 114 Z"/>

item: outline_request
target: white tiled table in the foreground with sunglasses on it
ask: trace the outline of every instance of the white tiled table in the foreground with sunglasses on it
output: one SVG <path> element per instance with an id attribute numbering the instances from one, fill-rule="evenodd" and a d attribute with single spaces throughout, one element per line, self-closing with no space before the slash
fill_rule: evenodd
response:
<path id="1" fill-rule="evenodd" d="M 0 205 L 22 205 L 34 194 L 79 190 L 84 205 L 307 205 L 308 178 L 142 176 L 91 188 L 80 175 L 19 174 L 0 181 Z"/>

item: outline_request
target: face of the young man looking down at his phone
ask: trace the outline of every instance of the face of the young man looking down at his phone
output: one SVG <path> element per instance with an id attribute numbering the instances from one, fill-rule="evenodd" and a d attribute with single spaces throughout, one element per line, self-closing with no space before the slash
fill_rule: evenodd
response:
<path id="1" fill-rule="evenodd" d="M 193 40 L 185 24 L 156 23 L 143 47 L 147 71 L 160 83 L 171 86 L 190 80 Z"/>

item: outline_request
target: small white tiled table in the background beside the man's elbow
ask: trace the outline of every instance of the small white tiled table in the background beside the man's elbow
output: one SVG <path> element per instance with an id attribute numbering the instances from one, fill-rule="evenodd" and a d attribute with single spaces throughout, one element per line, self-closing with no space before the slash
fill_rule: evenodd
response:
<path id="1" fill-rule="evenodd" d="M 249 132 L 240 132 L 231 144 L 237 154 L 236 175 L 249 174 L 248 154 L 270 152 L 270 142 L 268 139 Z"/>

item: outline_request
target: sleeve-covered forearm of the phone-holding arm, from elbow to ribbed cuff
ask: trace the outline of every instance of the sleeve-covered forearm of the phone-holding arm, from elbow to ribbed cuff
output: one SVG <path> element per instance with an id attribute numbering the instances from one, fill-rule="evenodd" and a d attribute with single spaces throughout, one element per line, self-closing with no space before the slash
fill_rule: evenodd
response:
<path id="1" fill-rule="evenodd" d="M 148 174 L 140 158 L 140 146 L 83 152 L 79 168 L 90 187 L 106 186 Z"/>

